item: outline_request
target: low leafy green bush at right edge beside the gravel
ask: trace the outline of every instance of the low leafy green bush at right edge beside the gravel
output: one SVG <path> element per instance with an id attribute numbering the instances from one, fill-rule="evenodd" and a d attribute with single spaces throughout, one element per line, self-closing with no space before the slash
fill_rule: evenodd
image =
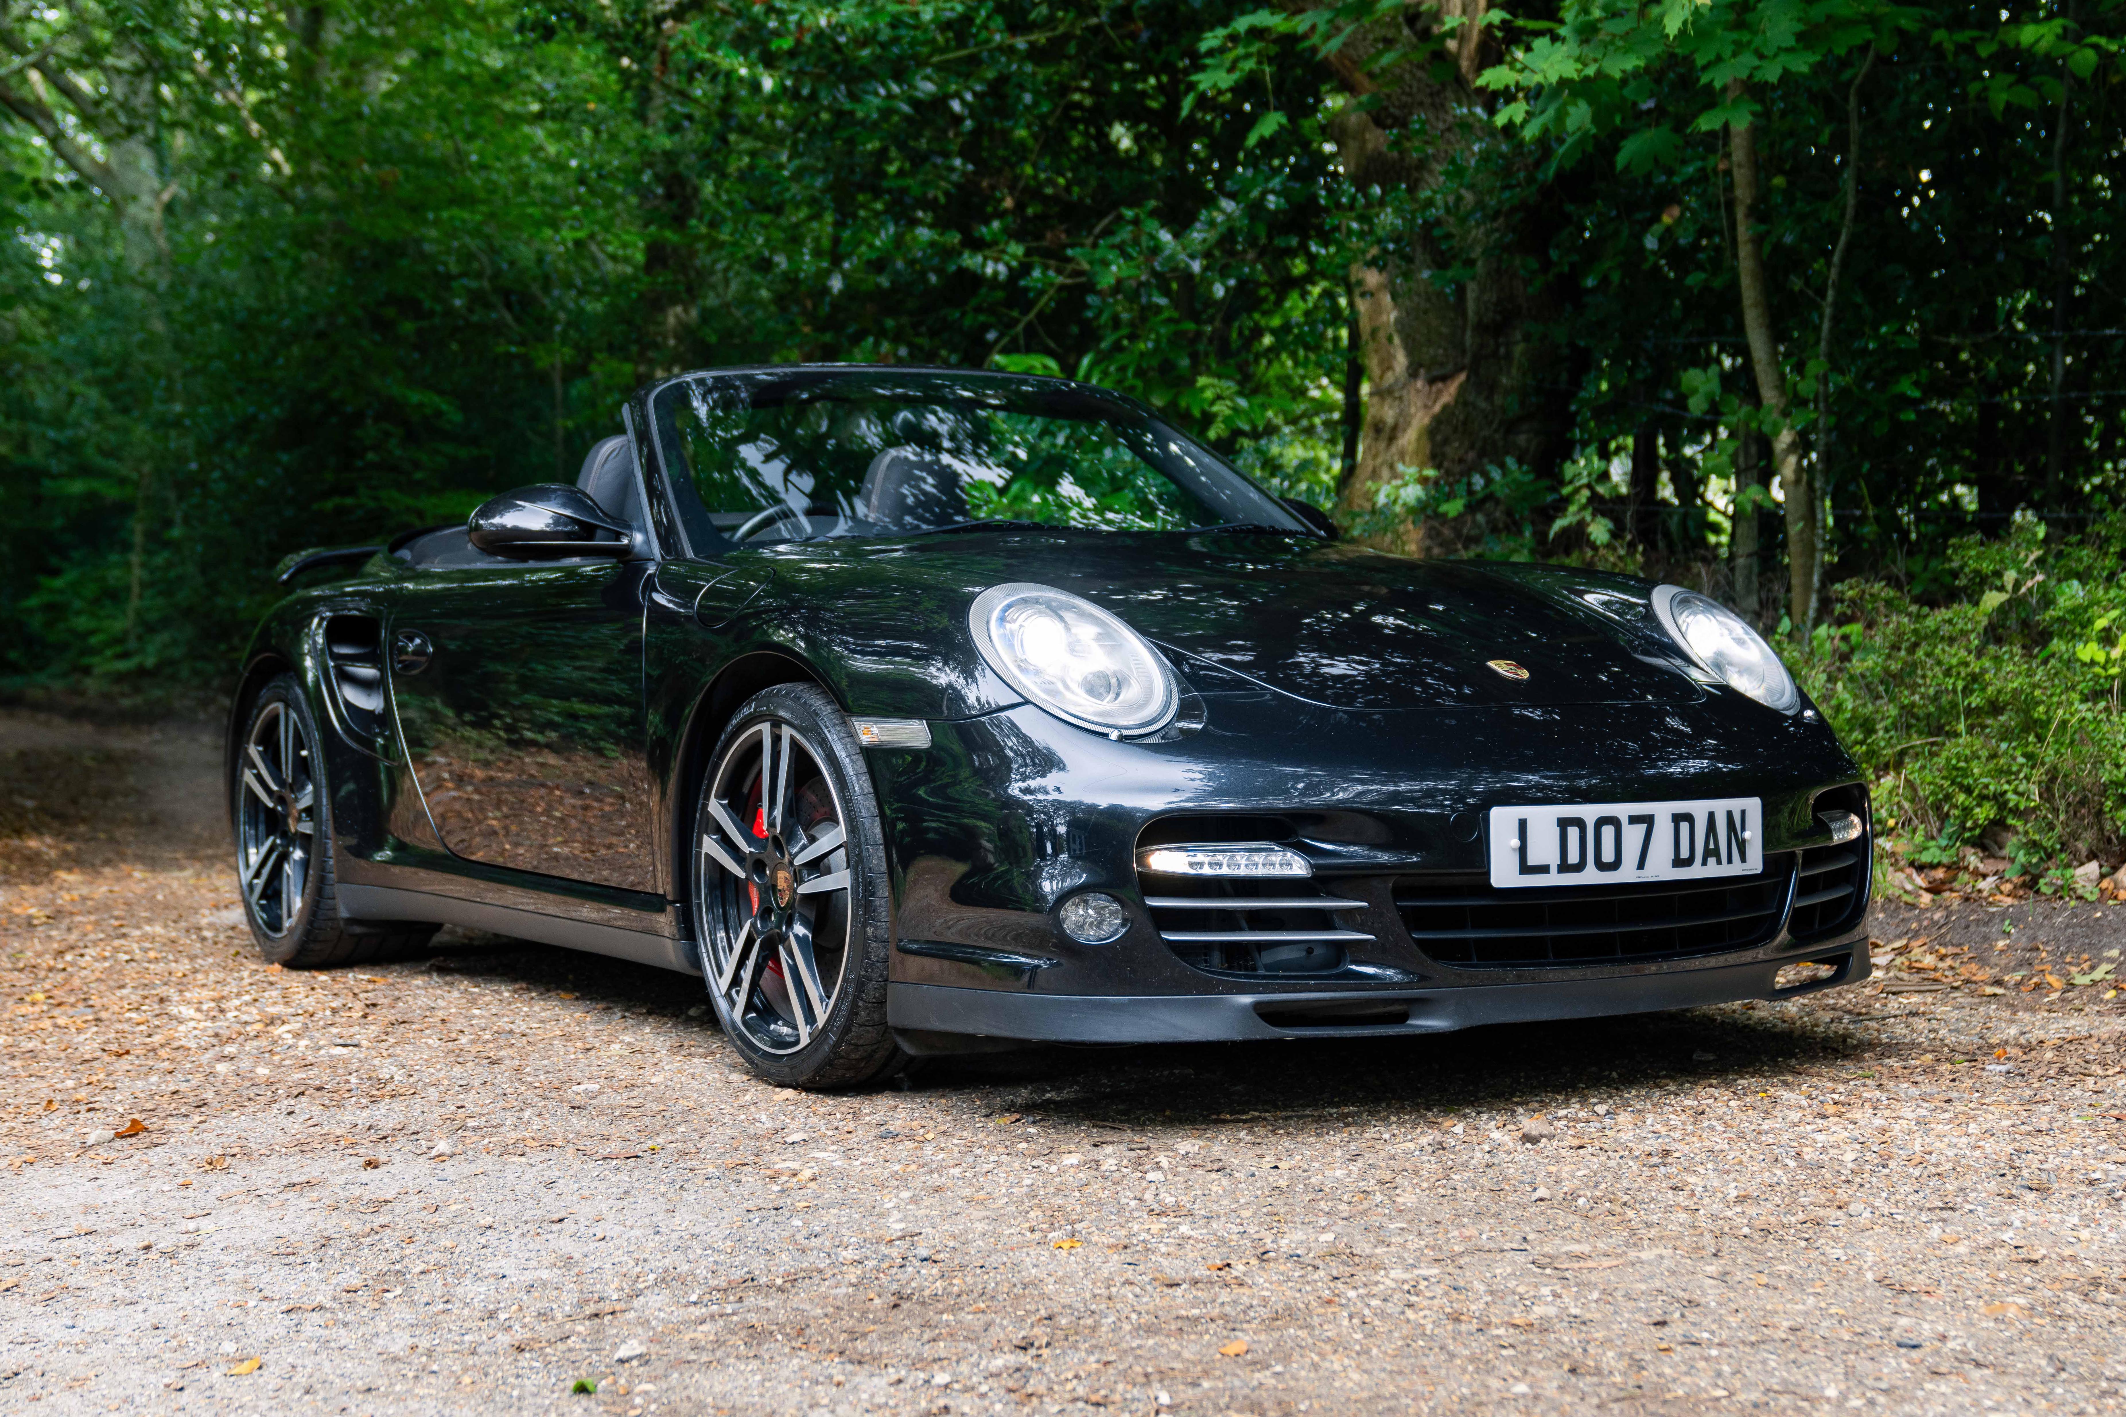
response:
<path id="1" fill-rule="evenodd" d="M 1920 860 L 1986 843 L 2013 871 L 2126 856 L 2126 514 L 2086 537 L 1956 542 L 1952 597 L 1847 582 L 1790 650 Z"/>

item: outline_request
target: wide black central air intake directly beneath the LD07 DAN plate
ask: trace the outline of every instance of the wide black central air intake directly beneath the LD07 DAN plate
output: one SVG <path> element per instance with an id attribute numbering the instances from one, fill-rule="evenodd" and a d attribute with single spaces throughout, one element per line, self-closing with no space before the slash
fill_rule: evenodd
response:
<path id="1" fill-rule="evenodd" d="M 1718 882 L 1499 890 L 1484 875 L 1405 875 L 1395 907 L 1410 939 L 1467 969 L 1677 960 L 1769 941 L 1786 916 L 1794 856 Z"/>

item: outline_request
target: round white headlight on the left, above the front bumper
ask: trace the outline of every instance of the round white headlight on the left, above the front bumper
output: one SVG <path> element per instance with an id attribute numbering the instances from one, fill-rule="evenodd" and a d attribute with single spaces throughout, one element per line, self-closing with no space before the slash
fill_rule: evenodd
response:
<path id="1" fill-rule="evenodd" d="M 991 586 L 967 612 L 989 667 L 1080 729 L 1157 733 L 1180 690 L 1167 661 L 1112 614 L 1054 586 Z"/>

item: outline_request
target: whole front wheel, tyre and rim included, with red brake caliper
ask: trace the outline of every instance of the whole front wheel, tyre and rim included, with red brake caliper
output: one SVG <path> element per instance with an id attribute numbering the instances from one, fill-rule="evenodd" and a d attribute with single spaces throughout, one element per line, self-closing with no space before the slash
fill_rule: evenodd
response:
<path id="1" fill-rule="evenodd" d="M 814 1090 L 899 1071 L 887 839 L 833 699 L 814 684 L 746 699 L 710 754 L 693 822 L 704 981 L 746 1064 Z"/>

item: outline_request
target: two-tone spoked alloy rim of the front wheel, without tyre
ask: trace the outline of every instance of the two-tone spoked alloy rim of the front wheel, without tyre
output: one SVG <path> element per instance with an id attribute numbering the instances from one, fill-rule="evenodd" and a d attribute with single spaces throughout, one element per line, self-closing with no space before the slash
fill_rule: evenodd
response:
<path id="1" fill-rule="evenodd" d="M 853 945 L 848 816 L 819 750 L 782 718 L 748 727 L 702 803 L 708 990 L 767 1054 L 833 1015 Z"/>

